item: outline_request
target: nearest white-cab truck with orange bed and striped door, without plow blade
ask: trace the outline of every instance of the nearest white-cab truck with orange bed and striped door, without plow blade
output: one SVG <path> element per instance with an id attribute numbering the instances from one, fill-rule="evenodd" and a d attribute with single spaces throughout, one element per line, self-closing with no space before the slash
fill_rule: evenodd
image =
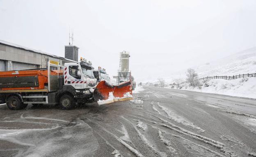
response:
<path id="1" fill-rule="evenodd" d="M 71 109 L 76 104 L 93 99 L 94 78 L 91 62 L 65 63 L 48 61 L 46 69 L 0 72 L 0 103 L 11 110 L 28 104 L 59 105 Z M 92 88 L 92 89 L 91 89 Z"/>

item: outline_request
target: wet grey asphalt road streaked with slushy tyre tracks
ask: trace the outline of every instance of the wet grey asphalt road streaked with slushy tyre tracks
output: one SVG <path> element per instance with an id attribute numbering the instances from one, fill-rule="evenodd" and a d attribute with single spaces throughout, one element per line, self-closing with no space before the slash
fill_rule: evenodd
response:
<path id="1" fill-rule="evenodd" d="M 145 86 L 69 111 L 0 106 L 0 157 L 256 156 L 256 100 Z"/>

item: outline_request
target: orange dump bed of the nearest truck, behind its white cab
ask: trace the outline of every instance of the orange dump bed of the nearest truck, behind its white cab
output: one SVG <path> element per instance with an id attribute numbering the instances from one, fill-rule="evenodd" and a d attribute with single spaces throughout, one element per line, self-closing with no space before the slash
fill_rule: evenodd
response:
<path id="1" fill-rule="evenodd" d="M 62 75 L 61 71 L 50 71 L 50 75 Z M 23 77 L 23 82 L 15 82 L 19 78 Z M 26 78 L 34 77 L 34 82 L 31 82 L 33 86 L 25 85 Z M 0 82 L 0 91 L 7 90 L 28 90 L 28 89 L 44 89 L 45 84 L 48 84 L 48 70 L 47 69 L 34 69 L 34 70 L 21 70 L 21 71 L 1 71 L 0 80 L 4 79 L 5 82 Z M 7 80 L 7 81 L 6 81 Z M 33 79 L 32 79 L 33 80 Z M 7 83 L 6 83 L 7 82 Z M 6 83 L 6 84 L 5 84 Z M 14 84 L 18 84 L 15 86 Z M 24 84 L 24 86 L 23 86 Z"/>

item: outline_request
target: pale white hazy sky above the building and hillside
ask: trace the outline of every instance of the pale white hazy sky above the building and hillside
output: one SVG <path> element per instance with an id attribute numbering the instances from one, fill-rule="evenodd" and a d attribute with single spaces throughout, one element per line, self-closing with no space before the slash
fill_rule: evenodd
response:
<path id="1" fill-rule="evenodd" d="M 69 27 L 79 57 L 116 75 L 119 52 L 143 81 L 256 46 L 256 0 L 0 0 L 0 39 L 64 57 Z"/>

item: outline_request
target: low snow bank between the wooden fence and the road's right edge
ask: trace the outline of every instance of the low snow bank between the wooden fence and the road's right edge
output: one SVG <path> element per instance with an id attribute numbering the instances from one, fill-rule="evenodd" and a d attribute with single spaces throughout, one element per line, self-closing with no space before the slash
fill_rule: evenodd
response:
<path id="1" fill-rule="evenodd" d="M 203 80 L 201 81 L 201 89 L 199 89 L 199 87 L 189 86 L 189 84 L 181 85 L 180 89 L 237 97 L 256 98 L 256 78 L 247 77 L 235 80 Z"/>

